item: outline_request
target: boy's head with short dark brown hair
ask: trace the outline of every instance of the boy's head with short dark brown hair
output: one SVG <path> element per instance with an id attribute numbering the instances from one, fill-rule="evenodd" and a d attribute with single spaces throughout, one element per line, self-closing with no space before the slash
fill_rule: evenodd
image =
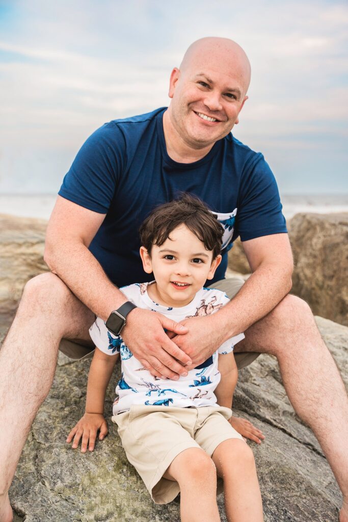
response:
<path id="1" fill-rule="evenodd" d="M 155 208 L 140 227 L 144 270 L 153 272 L 154 297 L 185 306 L 221 262 L 223 228 L 200 199 L 183 194 Z"/>

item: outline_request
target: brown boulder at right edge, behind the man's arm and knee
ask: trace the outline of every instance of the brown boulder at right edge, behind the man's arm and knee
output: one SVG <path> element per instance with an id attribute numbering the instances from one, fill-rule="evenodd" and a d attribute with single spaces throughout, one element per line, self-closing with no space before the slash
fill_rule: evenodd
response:
<path id="1" fill-rule="evenodd" d="M 293 289 L 316 315 L 348 325 L 348 212 L 296 214 L 288 223 Z"/>

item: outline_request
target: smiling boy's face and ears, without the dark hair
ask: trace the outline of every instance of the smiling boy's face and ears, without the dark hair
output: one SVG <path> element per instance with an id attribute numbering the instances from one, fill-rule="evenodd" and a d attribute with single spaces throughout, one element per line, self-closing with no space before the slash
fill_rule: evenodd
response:
<path id="1" fill-rule="evenodd" d="M 179 307 L 190 303 L 207 279 L 212 279 L 221 255 L 212 251 L 184 224 L 174 229 L 161 246 L 153 245 L 151 257 L 145 247 L 140 256 L 147 274 L 156 280 L 155 297 L 160 304 Z"/>

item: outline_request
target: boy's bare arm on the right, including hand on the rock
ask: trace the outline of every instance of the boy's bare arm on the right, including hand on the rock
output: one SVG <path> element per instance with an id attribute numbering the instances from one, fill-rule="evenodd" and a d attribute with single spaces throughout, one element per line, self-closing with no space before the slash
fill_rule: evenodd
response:
<path id="1" fill-rule="evenodd" d="M 231 408 L 238 378 L 238 369 L 233 352 L 226 354 L 219 353 L 218 370 L 221 374 L 221 379 L 214 391 L 218 405 Z M 246 419 L 231 417 L 229 422 L 243 437 L 249 438 L 257 444 L 260 444 L 261 439 L 265 438 L 265 435 Z"/>

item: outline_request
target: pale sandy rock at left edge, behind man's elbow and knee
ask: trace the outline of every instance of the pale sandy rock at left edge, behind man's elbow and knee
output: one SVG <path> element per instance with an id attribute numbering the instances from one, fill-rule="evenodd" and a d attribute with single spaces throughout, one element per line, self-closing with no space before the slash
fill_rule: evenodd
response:
<path id="1" fill-rule="evenodd" d="M 43 260 L 47 221 L 0 214 L 0 314 L 7 321 L 25 283 L 48 270 Z"/>

